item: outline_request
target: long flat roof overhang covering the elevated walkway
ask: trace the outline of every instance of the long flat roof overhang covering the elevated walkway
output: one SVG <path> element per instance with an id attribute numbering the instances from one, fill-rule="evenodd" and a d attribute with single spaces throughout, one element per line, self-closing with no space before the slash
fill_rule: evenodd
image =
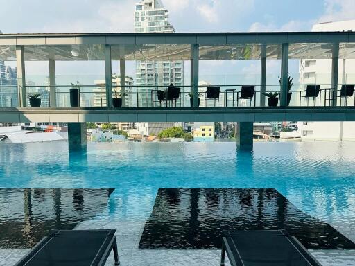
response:
<path id="1" fill-rule="evenodd" d="M 329 58 L 338 43 L 340 57 L 355 58 L 353 32 L 2 34 L 0 57 L 15 60 L 15 46 L 24 46 L 26 60 L 104 60 L 107 44 L 112 60 L 190 60 L 199 44 L 200 60 L 257 60 L 263 45 L 279 59 L 283 43 L 290 58 Z"/>

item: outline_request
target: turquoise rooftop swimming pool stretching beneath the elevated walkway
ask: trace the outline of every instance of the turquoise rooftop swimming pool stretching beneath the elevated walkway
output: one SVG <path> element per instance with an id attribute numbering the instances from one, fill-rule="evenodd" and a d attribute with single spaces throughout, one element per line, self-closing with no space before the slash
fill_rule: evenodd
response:
<path id="1" fill-rule="evenodd" d="M 159 188 L 275 188 L 355 241 L 354 150 L 352 142 L 254 143 L 253 152 L 235 143 L 89 143 L 87 151 L 70 153 L 67 143 L 3 144 L 0 187 L 114 188 L 76 228 L 117 228 L 123 265 L 218 265 L 218 250 L 139 249 L 145 222 L 153 207 L 159 211 Z M 4 217 L 0 211 L 0 224 Z M 24 251 L 0 247 L 6 258 L 0 265 L 12 265 Z M 353 250 L 312 253 L 323 265 L 355 265 Z"/>

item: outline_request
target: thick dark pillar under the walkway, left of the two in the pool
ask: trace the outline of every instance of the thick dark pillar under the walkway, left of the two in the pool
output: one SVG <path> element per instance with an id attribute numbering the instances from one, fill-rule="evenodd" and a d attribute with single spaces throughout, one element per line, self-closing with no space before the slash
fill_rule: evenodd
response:
<path id="1" fill-rule="evenodd" d="M 87 147 L 86 123 L 68 123 L 69 150 L 83 150 Z"/>

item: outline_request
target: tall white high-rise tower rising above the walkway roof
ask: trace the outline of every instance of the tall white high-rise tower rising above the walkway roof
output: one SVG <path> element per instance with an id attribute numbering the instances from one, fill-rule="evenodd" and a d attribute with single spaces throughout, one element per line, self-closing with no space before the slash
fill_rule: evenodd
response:
<path id="1" fill-rule="evenodd" d="M 136 3 L 136 33 L 173 33 L 174 31 L 173 26 L 168 21 L 168 10 L 164 8 L 162 1 L 141 0 L 141 2 Z M 151 107 L 150 91 L 152 91 L 153 86 L 168 87 L 170 83 L 173 83 L 175 87 L 184 85 L 184 62 L 181 60 L 137 60 L 136 83 L 139 92 L 139 107 Z M 184 103 L 184 94 L 180 94 L 180 101 Z"/>

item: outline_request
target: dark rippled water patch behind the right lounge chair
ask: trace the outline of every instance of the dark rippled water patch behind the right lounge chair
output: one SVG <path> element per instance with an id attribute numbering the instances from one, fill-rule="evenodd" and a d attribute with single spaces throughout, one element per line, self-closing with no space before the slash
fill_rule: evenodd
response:
<path id="1" fill-rule="evenodd" d="M 286 229 L 309 249 L 354 249 L 326 222 L 302 213 L 275 189 L 162 188 L 139 248 L 220 248 L 223 230 Z"/>

